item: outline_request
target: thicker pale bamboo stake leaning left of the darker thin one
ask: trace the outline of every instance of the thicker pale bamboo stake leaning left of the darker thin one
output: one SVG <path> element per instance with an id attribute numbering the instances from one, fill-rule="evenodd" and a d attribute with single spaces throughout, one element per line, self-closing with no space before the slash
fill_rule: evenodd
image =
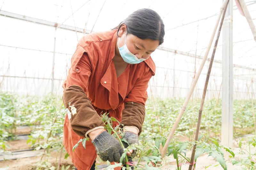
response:
<path id="1" fill-rule="evenodd" d="M 216 21 L 216 24 L 215 24 L 215 26 L 214 26 L 214 29 L 213 29 L 213 32 L 212 32 L 212 36 L 211 36 L 211 39 L 210 39 L 209 44 L 208 44 L 208 46 L 207 46 L 206 52 L 205 52 L 205 54 L 204 54 L 204 58 L 203 58 L 203 60 L 202 60 L 202 62 L 201 62 L 201 65 L 200 65 L 200 67 L 199 67 L 199 69 L 198 69 L 198 72 L 196 73 L 195 79 L 192 81 L 192 84 L 191 84 L 190 89 L 189 89 L 189 91 L 188 91 L 188 96 L 187 96 L 187 98 L 185 99 L 185 101 L 184 101 L 184 103 L 183 103 L 183 106 L 182 106 L 181 109 L 180 109 L 180 113 L 179 113 L 178 117 L 176 118 L 176 121 L 175 121 L 174 125 L 172 126 L 172 130 L 171 130 L 171 132 L 169 133 L 169 136 L 168 136 L 168 138 L 167 138 L 167 140 L 166 140 L 166 142 L 165 142 L 164 148 L 163 148 L 163 150 L 162 150 L 162 152 L 161 152 L 162 158 L 164 157 L 164 155 L 165 155 L 165 153 L 166 153 L 166 151 L 167 151 L 167 148 L 168 148 L 168 146 L 169 146 L 169 144 L 170 144 L 170 142 L 171 142 L 171 139 L 172 139 L 172 137 L 173 137 L 173 134 L 174 134 L 174 132 L 175 132 L 175 130 L 176 130 L 176 128 L 177 128 L 179 122 L 180 122 L 180 119 L 181 119 L 181 117 L 182 117 L 184 111 L 186 110 L 186 107 L 187 107 L 187 105 L 188 105 L 189 99 L 190 99 L 191 95 L 193 94 L 193 91 L 194 91 L 194 89 L 195 89 L 197 80 L 198 80 L 198 78 L 199 78 L 199 76 L 200 76 L 200 74 L 201 74 L 201 72 L 202 72 L 202 69 L 203 69 L 203 67 L 204 67 L 204 63 L 205 63 L 205 61 L 206 61 L 206 59 L 207 59 L 207 56 L 208 56 L 209 51 L 210 51 L 210 48 L 211 48 L 211 46 L 212 46 L 212 41 L 213 41 L 215 32 L 216 32 L 216 30 L 217 30 L 217 27 L 218 27 L 218 25 L 219 25 L 221 14 L 222 14 L 223 9 L 224 9 L 224 7 L 226 6 L 226 4 L 228 4 L 228 0 L 225 0 L 225 2 L 222 4 L 222 6 L 221 6 L 221 8 L 220 8 L 220 13 L 219 13 L 218 19 L 217 19 L 217 21 Z"/>

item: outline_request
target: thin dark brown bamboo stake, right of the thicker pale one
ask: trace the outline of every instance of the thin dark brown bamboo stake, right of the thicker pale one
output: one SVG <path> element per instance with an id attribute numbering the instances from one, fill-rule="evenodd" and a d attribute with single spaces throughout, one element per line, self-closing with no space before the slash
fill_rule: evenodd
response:
<path id="1" fill-rule="evenodd" d="M 224 18 L 225 18 L 225 13 L 227 11 L 227 7 L 228 7 L 228 4 L 225 6 L 225 9 L 224 9 L 222 17 L 221 17 L 219 31 L 217 33 L 217 37 L 216 37 L 216 40 L 215 40 L 214 48 L 213 48 L 213 51 L 212 51 L 211 61 L 210 61 L 209 67 L 208 67 L 208 72 L 207 72 L 207 76 L 206 76 L 206 80 L 205 80 L 205 84 L 204 84 L 204 92 L 203 92 L 203 96 L 202 96 L 202 100 L 201 100 L 201 104 L 200 104 L 200 109 L 199 109 L 199 113 L 198 113 L 198 122 L 197 122 L 197 127 L 196 127 L 195 141 L 198 140 L 198 135 L 199 135 L 199 130 L 200 130 L 200 123 L 201 123 L 201 117 L 202 117 L 202 111 L 203 111 L 204 100 L 205 100 L 205 96 L 206 96 L 206 90 L 207 90 L 210 74 L 211 74 L 211 71 L 212 71 L 213 59 L 214 59 L 214 55 L 215 55 L 216 48 L 217 48 L 217 45 L 218 45 L 218 41 L 219 41 L 219 37 L 220 37 L 220 31 L 221 31 L 222 24 L 223 24 L 223 21 L 224 21 Z M 196 152 L 196 144 L 193 147 L 193 151 L 192 151 L 192 155 L 191 155 L 191 159 L 190 159 L 190 164 L 189 164 L 188 170 L 191 170 L 192 167 L 195 165 L 195 162 L 194 162 L 195 152 Z M 193 169 L 195 169 L 195 167 L 193 167 Z"/>

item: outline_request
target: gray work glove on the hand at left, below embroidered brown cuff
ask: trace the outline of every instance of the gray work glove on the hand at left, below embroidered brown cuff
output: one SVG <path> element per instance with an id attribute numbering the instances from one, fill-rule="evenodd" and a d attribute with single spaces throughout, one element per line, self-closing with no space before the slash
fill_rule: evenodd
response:
<path id="1" fill-rule="evenodd" d="M 119 162 L 121 155 L 124 153 L 123 147 L 119 141 L 110 135 L 107 131 L 101 132 L 92 144 L 95 146 L 97 154 L 103 161 Z"/>

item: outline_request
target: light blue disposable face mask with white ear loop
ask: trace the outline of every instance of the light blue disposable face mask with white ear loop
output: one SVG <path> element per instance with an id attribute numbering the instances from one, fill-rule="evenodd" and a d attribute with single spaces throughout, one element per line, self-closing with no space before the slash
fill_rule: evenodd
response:
<path id="1" fill-rule="evenodd" d="M 118 47 L 119 53 L 120 53 L 121 57 L 123 58 L 123 60 L 125 62 L 129 63 L 129 64 L 138 64 L 138 63 L 140 63 L 144 60 L 147 60 L 149 57 L 147 59 L 143 59 L 143 58 L 138 59 L 136 57 L 136 55 L 134 55 L 133 53 L 131 53 L 128 50 L 128 48 L 126 46 L 126 35 L 127 35 L 127 32 L 125 34 L 124 46 L 122 46 L 122 47 L 118 46 L 118 42 L 119 42 L 120 37 L 118 38 L 118 42 L 117 42 L 117 47 Z"/>

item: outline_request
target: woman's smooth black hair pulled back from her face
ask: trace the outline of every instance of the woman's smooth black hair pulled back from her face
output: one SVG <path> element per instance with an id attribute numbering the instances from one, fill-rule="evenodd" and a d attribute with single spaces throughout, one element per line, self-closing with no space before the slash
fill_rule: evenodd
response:
<path id="1" fill-rule="evenodd" d="M 158 13 L 154 10 L 143 8 L 134 11 L 124 19 L 116 28 L 125 24 L 127 33 L 131 33 L 140 39 L 159 40 L 159 45 L 164 42 L 164 23 Z"/>

